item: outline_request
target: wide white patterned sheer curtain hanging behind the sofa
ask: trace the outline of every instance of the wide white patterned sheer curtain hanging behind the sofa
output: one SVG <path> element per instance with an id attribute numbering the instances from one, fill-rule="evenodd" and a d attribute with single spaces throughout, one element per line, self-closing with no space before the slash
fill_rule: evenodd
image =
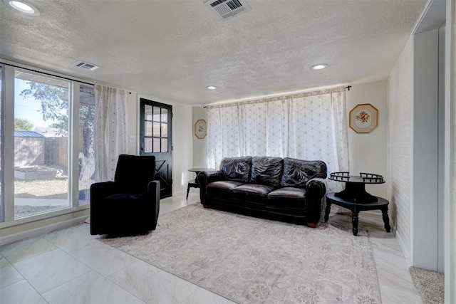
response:
<path id="1" fill-rule="evenodd" d="M 345 88 L 208 106 L 207 165 L 266 155 L 320 159 L 328 173 L 348 171 L 346 117 Z"/>

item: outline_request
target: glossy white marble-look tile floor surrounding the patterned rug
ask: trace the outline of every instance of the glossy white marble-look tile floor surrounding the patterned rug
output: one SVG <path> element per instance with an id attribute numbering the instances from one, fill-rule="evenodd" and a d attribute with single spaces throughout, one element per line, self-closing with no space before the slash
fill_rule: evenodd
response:
<path id="1" fill-rule="evenodd" d="M 162 199 L 160 214 L 198 201 L 197 189 Z M 329 222 L 351 226 L 347 212 Z M 381 215 L 361 212 L 359 228 L 371 231 L 383 303 L 422 303 Z M 0 303 L 232 303 L 97 238 L 81 224 L 0 247 Z"/>

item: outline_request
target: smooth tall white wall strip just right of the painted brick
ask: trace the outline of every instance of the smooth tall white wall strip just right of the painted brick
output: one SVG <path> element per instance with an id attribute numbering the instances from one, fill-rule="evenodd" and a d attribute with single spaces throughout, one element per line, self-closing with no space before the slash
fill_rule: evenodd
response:
<path id="1" fill-rule="evenodd" d="M 438 29 L 413 36 L 411 256 L 437 270 Z M 423 225 L 423 223 L 427 223 Z M 443 250 L 443 248 L 442 248 Z"/>

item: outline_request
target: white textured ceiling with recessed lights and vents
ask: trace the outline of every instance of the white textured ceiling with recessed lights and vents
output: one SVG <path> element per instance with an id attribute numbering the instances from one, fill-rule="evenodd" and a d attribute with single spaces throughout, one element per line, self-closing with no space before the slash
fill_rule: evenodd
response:
<path id="1" fill-rule="evenodd" d="M 202 0 L 29 1 L 41 16 L 0 2 L 0 58 L 187 104 L 386 78 L 426 3 L 247 0 L 222 21 Z"/>

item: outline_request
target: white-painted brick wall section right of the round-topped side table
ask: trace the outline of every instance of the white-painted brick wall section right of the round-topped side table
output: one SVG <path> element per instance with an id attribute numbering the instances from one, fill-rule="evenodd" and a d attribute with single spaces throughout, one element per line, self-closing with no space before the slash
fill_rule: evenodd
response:
<path id="1" fill-rule="evenodd" d="M 412 166 L 413 43 L 395 63 L 388 78 L 388 199 L 395 236 L 410 261 Z"/>

